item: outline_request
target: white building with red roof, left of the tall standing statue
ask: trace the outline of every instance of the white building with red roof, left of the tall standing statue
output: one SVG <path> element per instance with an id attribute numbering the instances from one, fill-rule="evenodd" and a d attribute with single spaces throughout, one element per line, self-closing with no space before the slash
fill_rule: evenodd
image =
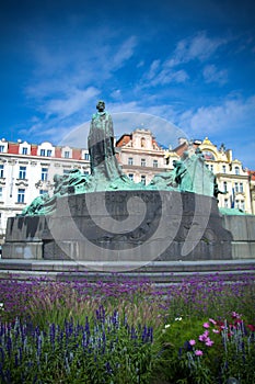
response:
<path id="1" fill-rule="evenodd" d="M 54 174 L 71 169 L 90 173 L 88 149 L 0 140 L 0 241 L 8 217 L 20 214 L 35 197 L 53 193 Z"/>

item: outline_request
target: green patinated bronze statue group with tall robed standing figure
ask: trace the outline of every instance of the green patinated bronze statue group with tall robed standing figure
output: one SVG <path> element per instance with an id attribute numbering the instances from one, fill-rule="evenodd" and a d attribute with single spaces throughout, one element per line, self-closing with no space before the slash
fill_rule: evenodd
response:
<path id="1" fill-rule="evenodd" d="M 196 192 L 213 196 L 213 174 L 205 167 L 201 154 L 193 154 L 184 160 L 175 160 L 174 169 L 157 174 L 150 184 L 132 182 L 121 170 L 114 147 L 114 128 L 111 114 L 105 111 L 104 101 L 96 104 L 88 136 L 91 174 L 79 169 L 68 174 L 54 177 L 54 192 L 36 197 L 21 213 L 25 215 L 47 215 L 55 211 L 56 201 L 61 196 L 115 190 L 175 190 Z M 201 182 L 202 181 L 202 182 Z"/>

